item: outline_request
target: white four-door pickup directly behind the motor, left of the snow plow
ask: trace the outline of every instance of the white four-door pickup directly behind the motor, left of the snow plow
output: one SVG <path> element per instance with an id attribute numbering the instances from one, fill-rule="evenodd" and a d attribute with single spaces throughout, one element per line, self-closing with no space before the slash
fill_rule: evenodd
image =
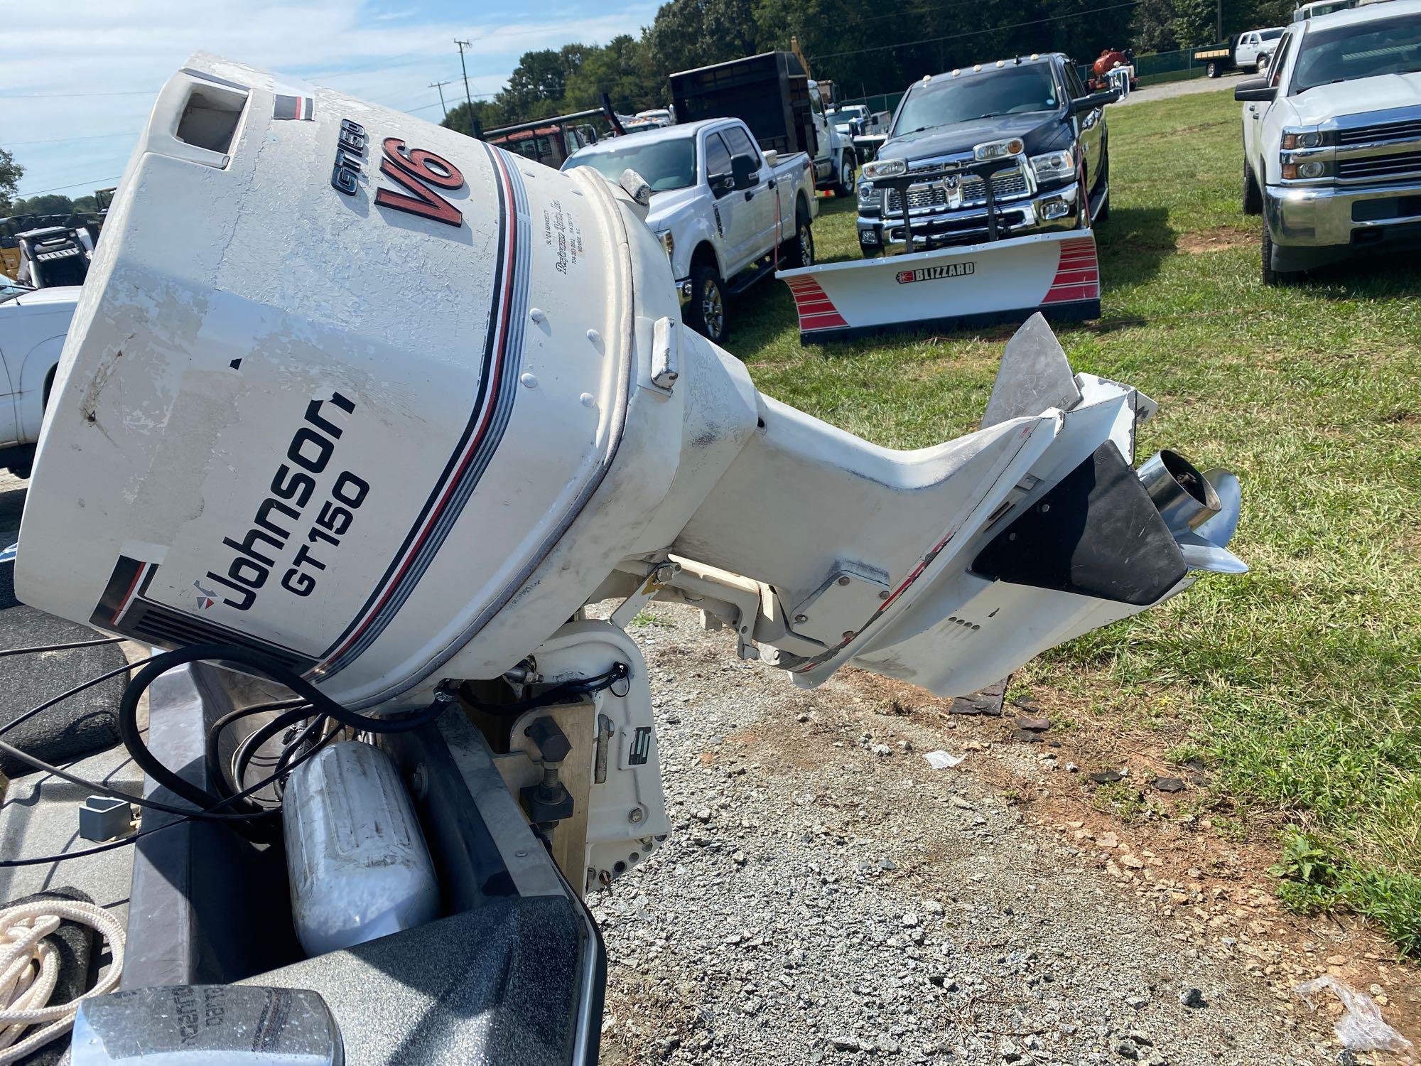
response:
<path id="1" fill-rule="evenodd" d="M 682 314 L 722 344 L 728 297 L 776 266 L 810 266 L 818 213 L 804 152 L 762 152 L 737 118 L 628 134 L 574 152 L 564 171 L 591 166 L 610 181 L 635 171 L 651 186 L 647 225 L 666 249 Z"/>

